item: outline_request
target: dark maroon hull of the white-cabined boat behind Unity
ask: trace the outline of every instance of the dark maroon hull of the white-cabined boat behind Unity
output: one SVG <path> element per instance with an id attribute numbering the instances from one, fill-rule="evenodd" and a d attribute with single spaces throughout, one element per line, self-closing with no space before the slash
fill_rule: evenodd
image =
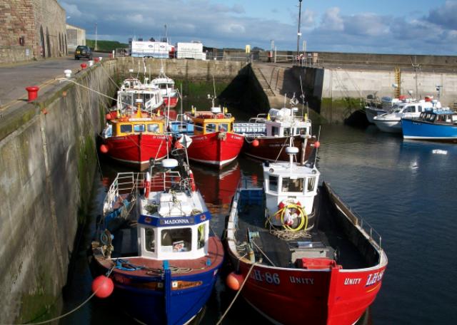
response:
<path id="1" fill-rule="evenodd" d="M 258 146 L 254 147 L 252 145 L 253 138 L 247 138 L 248 141 L 243 146 L 243 153 L 253 158 L 261 159 L 261 160 L 282 160 L 288 161 L 289 156 L 286 154 L 285 148 L 289 146 L 288 137 L 258 137 Z M 295 136 L 293 138 L 293 145 L 298 148 L 299 152 L 297 155 L 298 161 L 300 161 L 301 157 L 301 143 L 302 139 L 300 136 Z M 311 154 L 311 151 L 314 148 L 314 143 L 316 143 L 315 138 L 308 139 L 306 145 L 306 156 L 305 160 Z M 282 149 L 282 150 L 281 150 Z M 279 155 L 279 158 L 278 158 Z"/>

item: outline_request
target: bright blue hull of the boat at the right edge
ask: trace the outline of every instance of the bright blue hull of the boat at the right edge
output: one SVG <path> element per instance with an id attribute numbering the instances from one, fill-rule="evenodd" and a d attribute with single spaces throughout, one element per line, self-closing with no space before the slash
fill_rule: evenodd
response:
<path id="1" fill-rule="evenodd" d="M 421 120 L 401 120 L 403 138 L 423 140 L 457 140 L 457 125 L 438 124 Z"/>

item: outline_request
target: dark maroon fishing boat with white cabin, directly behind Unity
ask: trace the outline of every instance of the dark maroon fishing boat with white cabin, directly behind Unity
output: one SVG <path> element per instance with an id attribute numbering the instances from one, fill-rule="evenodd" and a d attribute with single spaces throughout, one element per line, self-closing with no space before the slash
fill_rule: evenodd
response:
<path id="1" fill-rule="evenodd" d="M 304 139 L 308 138 L 305 158 L 311 154 L 318 141 L 311 136 L 311 120 L 308 115 L 296 115 L 298 108 L 271 108 L 268 114 L 259 114 L 251 118 L 248 123 L 235 123 L 233 129 L 243 134 L 246 142 L 243 153 L 259 160 L 286 161 L 288 155 L 284 150 L 288 147 L 289 138 L 293 138 L 293 145 L 302 155 Z"/>

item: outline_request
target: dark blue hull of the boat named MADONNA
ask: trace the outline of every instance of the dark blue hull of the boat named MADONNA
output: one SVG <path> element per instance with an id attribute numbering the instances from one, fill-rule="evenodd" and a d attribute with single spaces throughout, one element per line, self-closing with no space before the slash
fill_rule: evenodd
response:
<path id="1" fill-rule="evenodd" d="M 173 276 L 170 281 L 156 278 L 166 289 L 149 289 L 151 282 L 143 282 L 141 277 L 129 277 L 131 284 L 115 282 L 114 299 L 119 308 L 145 324 L 186 324 L 204 307 L 216 283 L 221 265 L 211 268 L 209 272 Z M 215 274 L 216 273 L 216 274 Z M 166 278 L 166 277 L 165 277 Z M 144 280 L 144 278 L 143 278 Z M 172 282 L 201 282 L 198 287 L 189 289 L 171 289 Z M 168 285 L 167 285 L 168 283 Z"/>

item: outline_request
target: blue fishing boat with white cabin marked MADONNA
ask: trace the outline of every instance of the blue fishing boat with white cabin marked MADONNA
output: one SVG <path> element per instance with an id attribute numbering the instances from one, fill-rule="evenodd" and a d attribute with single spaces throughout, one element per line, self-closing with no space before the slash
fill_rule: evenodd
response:
<path id="1" fill-rule="evenodd" d="M 146 173 L 119 173 L 92 242 L 96 273 L 106 274 L 96 279 L 103 278 L 97 295 L 111 294 L 104 292 L 110 282 L 114 306 L 142 324 L 192 321 L 209 299 L 224 259 L 183 152 L 174 150 L 176 159 Z"/>

